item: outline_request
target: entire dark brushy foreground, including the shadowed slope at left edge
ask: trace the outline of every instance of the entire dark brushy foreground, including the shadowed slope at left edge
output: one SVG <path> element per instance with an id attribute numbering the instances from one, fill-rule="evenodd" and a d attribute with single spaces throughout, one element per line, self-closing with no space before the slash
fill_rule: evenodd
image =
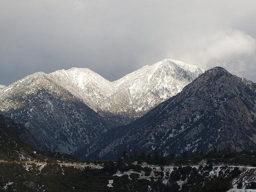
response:
<path id="1" fill-rule="evenodd" d="M 165 161 L 158 158 L 156 162 L 162 162 L 161 166 L 138 164 L 128 158 L 98 164 L 67 162 L 62 154 L 56 154 L 54 158 L 34 154 L 10 129 L 12 124 L 0 123 L 0 191 L 226 192 L 230 188 L 256 187 L 256 168 L 252 166 L 213 165 L 205 161 L 203 165 L 197 165 L 199 159 L 194 159 L 191 164 L 188 158 L 182 159 L 186 166 L 164 163 L 171 160 L 168 158 Z M 226 155 L 226 160 L 230 161 L 231 156 Z M 236 162 L 240 158 L 249 158 L 255 164 L 255 156 L 247 158 L 244 155 L 236 154 L 232 159 Z M 150 159 L 157 160 L 155 157 Z M 216 158 L 210 160 L 216 161 Z M 178 159 L 173 161 L 179 162 Z"/>

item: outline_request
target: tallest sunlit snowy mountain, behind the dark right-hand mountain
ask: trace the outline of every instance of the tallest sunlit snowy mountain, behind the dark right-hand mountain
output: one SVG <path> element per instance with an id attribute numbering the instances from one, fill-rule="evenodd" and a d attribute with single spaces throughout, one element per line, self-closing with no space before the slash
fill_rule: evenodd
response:
<path id="1" fill-rule="evenodd" d="M 114 104 L 125 108 L 116 106 L 112 113 L 128 111 L 134 116 L 141 116 L 178 94 L 203 72 L 196 66 L 170 59 L 144 66 L 114 82 L 117 93 L 113 96 Z"/>

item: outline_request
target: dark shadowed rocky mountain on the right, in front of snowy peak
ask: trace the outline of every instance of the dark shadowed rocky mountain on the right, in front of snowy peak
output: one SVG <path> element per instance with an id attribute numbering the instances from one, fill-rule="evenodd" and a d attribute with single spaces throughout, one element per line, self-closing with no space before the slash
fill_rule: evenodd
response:
<path id="1" fill-rule="evenodd" d="M 216 67 L 142 118 L 106 132 L 84 158 L 117 158 L 122 150 L 165 155 L 230 148 L 256 150 L 256 84 Z"/>

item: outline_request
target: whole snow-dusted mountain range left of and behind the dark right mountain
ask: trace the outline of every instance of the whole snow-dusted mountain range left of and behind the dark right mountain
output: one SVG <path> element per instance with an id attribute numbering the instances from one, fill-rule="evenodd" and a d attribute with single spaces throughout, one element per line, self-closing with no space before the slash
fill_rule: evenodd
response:
<path id="1" fill-rule="evenodd" d="M 204 70 L 165 59 L 109 82 L 84 68 L 38 72 L 1 86 L 0 113 L 40 147 L 72 154 L 176 95 Z"/>

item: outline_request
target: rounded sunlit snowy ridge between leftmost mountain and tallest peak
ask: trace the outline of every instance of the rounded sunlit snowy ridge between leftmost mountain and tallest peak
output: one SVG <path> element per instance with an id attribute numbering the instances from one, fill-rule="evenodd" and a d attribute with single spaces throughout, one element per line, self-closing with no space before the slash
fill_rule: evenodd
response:
<path id="1" fill-rule="evenodd" d="M 58 70 L 49 76 L 94 111 L 97 111 L 100 102 L 113 92 L 111 82 L 88 68 Z"/>

